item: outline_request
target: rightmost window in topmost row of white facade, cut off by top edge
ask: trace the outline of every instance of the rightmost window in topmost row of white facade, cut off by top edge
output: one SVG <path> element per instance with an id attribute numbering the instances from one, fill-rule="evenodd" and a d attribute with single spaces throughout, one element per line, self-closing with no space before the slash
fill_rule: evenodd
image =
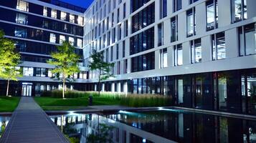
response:
<path id="1" fill-rule="evenodd" d="M 247 0 L 232 0 L 232 22 L 247 19 Z"/>

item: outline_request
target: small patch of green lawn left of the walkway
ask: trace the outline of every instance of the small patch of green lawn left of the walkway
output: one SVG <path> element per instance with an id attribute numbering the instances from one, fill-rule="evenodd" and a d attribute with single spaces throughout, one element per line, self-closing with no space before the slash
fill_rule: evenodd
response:
<path id="1" fill-rule="evenodd" d="M 19 104 L 19 97 L 0 97 L 0 112 L 13 112 Z"/>

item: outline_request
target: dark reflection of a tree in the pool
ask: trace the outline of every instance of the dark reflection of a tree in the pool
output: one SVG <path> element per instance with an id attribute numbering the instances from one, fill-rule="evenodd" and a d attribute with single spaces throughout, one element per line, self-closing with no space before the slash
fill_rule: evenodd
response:
<path id="1" fill-rule="evenodd" d="M 101 143 L 101 142 L 113 142 L 109 136 L 110 132 L 113 132 L 114 127 L 108 126 L 107 124 L 99 124 L 99 133 L 98 134 L 89 134 L 86 137 L 88 143 Z"/>

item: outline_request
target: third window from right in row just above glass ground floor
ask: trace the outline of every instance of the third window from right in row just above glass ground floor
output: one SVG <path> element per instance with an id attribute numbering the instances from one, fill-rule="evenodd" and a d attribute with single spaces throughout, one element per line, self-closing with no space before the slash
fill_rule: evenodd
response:
<path id="1" fill-rule="evenodd" d="M 201 39 L 190 41 L 191 45 L 191 64 L 202 62 Z"/>

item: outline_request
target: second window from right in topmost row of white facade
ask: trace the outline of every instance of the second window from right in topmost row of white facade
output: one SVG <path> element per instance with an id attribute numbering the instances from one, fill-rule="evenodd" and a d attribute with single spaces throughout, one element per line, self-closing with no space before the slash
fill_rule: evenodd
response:
<path id="1" fill-rule="evenodd" d="M 217 0 L 207 1 L 207 31 L 218 28 Z"/>

